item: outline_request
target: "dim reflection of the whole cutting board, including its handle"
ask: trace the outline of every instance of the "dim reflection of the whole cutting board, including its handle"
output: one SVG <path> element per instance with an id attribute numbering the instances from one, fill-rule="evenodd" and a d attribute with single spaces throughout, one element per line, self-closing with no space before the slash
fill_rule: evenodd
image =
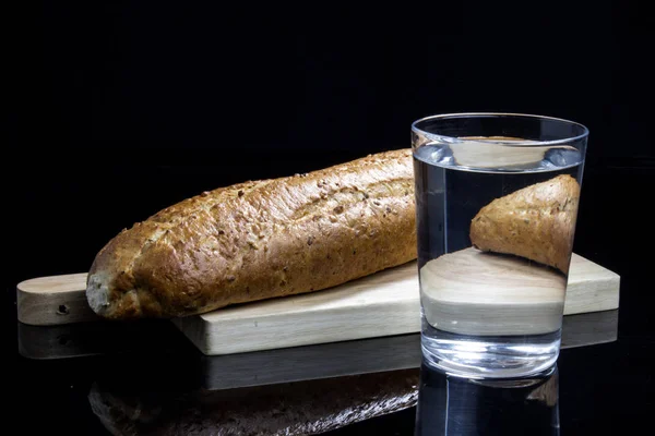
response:
<path id="1" fill-rule="evenodd" d="M 618 312 L 614 310 L 565 316 L 561 348 L 615 341 L 618 332 Z M 140 323 L 73 323 L 59 326 L 31 326 L 19 323 L 17 334 L 19 352 L 28 359 L 132 353 L 170 355 L 196 350 L 172 323 L 165 319 Z M 235 387 L 235 383 L 254 385 L 265 380 L 294 382 L 307 379 L 312 375 L 332 377 L 392 371 L 408 364 L 418 366 L 420 335 L 394 335 L 200 358 L 203 368 L 212 368 L 209 372 L 201 371 L 203 379 L 214 380 L 207 386 L 217 386 L 216 383 Z"/>

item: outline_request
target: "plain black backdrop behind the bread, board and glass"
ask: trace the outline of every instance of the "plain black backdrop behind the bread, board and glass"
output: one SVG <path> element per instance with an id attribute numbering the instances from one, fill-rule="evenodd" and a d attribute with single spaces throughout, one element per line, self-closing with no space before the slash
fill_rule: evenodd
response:
<path id="1" fill-rule="evenodd" d="M 16 282 L 86 270 L 120 229 L 190 195 L 408 147 L 412 121 L 457 111 L 590 128 L 574 251 L 621 274 L 626 347 L 653 349 L 639 312 L 653 302 L 652 15 L 632 1 L 354 3 L 51 1 L 9 23 L 12 362 Z M 645 400 L 652 364 L 626 359 L 600 367 L 638 368 Z"/>

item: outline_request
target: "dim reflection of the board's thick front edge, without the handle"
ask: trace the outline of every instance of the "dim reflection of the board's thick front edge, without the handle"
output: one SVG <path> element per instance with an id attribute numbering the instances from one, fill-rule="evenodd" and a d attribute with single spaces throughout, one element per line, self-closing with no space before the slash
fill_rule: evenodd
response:
<path id="1" fill-rule="evenodd" d="M 617 340 L 618 310 L 564 317 L 561 348 Z M 294 347 L 201 359 L 202 387 L 210 390 L 419 367 L 420 335 Z"/>

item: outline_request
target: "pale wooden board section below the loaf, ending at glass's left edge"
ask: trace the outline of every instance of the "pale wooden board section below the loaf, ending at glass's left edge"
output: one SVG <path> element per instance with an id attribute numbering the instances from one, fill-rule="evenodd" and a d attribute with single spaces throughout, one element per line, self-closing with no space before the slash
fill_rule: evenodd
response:
<path id="1" fill-rule="evenodd" d="M 412 263 L 327 291 L 174 323 L 210 355 L 416 332 L 420 330 L 416 276 Z"/>

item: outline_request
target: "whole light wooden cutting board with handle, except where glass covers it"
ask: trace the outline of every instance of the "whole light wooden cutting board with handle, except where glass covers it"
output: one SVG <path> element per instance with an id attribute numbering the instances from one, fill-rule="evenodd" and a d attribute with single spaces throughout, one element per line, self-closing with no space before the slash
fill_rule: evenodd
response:
<path id="1" fill-rule="evenodd" d="M 58 325 L 98 319 L 86 305 L 86 275 L 26 280 L 17 286 L 19 320 Z M 619 304 L 619 276 L 574 255 L 565 314 Z M 420 331 L 418 274 L 409 263 L 331 290 L 175 319 L 205 354 L 325 343 Z"/>

